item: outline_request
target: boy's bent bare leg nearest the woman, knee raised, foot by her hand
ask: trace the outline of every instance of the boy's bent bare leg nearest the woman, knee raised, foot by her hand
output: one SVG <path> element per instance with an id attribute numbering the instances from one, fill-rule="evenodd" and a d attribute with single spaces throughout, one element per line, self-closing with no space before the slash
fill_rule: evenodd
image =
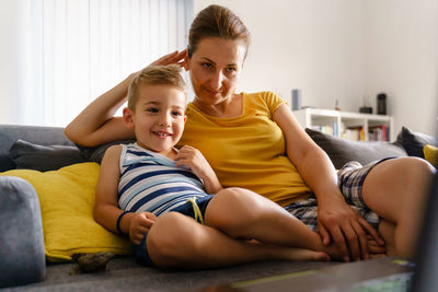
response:
<path id="1" fill-rule="evenodd" d="M 206 225 L 234 238 L 254 238 L 265 244 L 325 250 L 337 257 L 334 246 L 323 245 L 321 237 L 284 208 L 255 192 L 241 188 L 219 191 L 208 203 Z"/>

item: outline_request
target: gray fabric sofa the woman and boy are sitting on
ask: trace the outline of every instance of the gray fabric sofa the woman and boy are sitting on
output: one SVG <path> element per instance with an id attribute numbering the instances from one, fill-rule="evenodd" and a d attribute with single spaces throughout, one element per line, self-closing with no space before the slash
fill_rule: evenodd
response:
<path id="1" fill-rule="evenodd" d="M 325 142 L 324 145 L 327 147 L 327 141 L 321 141 L 324 136 L 311 131 L 308 133 L 318 143 Z M 328 139 L 332 148 L 333 143 L 343 143 L 337 140 L 333 142 L 331 137 L 325 139 Z M 406 155 L 403 147 L 396 143 L 390 145 L 393 147 L 393 155 Z M 339 147 L 336 148 L 338 151 Z M 324 150 L 330 152 L 330 149 Z M 89 160 L 90 155 L 84 156 L 84 153 L 87 151 L 81 152 L 65 137 L 62 128 L 0 125 L 0 172 L 13 168 L 56 170 Z M 384 153 L 389 154 L 390 152 Z M 171 271 L 141 267 L 129 256 L 116 256 L 110 260 L 107 271 L 74 273 L 76 262 L 46 262 L 44 253 L 37 194 L 24 179 L 0 177 L 0 289 L 200 291 L 211 285 L 316 269 L 327 265 L 344 265 L 321 261 L 264 261 L 222 269 Z"/>

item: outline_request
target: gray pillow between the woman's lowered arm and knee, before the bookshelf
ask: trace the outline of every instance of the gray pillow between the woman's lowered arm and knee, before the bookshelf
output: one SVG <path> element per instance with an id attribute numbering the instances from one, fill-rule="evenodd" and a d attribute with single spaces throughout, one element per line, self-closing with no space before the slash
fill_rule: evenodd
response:
<path id="1" fill-rule="evenodd" d="M 349 161 L 365 165 L 385 157 L 407 156 L 406 151 L 396 142 L 348 141 L 309 128 L 306 128 L 306 132 L 327 153 L 336 170 Z"/>

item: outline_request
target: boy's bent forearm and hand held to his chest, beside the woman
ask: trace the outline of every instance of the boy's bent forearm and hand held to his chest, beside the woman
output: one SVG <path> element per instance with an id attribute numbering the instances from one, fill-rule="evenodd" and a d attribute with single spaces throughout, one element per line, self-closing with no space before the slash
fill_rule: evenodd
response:
<path id="1" fill-rule="evenodd" d="M 196 148 L 184 145 L 176 154 L 176 166 L 187 166 L 192 172 L 204 180 L 207 194 L 216 194 L 222 189 L 215 171 L 211 168 L 203 153 Z"/>

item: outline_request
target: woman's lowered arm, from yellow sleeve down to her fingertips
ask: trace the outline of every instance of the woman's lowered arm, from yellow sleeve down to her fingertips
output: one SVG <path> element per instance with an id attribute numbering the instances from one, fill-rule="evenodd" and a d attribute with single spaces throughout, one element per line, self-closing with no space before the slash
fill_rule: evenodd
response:
<path id="1" fill-rule="evenodd" d="M 336 171 L 326 153 L 301 129 L 286 104 L 278 107 L 273 119 L 285 135 L 288 157 L 316 196 L 318 227 L 324 244 L 328 244 L 332 237 L 346 261 L 349 260 L 349 256 L 355 260 L 367 258 L 366 233 L 377 241 L 381 242 L 381 238 L 377 231 L 345 202 L 337 187 Z"/>

